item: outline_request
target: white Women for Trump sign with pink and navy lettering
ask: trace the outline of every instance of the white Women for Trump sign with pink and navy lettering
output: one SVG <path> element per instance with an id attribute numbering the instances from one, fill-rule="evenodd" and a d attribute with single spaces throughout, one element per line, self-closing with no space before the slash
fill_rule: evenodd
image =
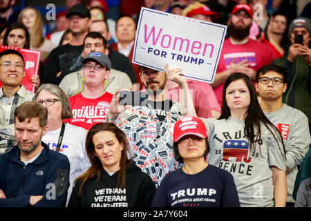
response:
<path id="1" fill-rule="evenodd" d="M 133 63 L 182 68 L 189 79 L 213 82 L 227 26 L 142 8 Z"/>

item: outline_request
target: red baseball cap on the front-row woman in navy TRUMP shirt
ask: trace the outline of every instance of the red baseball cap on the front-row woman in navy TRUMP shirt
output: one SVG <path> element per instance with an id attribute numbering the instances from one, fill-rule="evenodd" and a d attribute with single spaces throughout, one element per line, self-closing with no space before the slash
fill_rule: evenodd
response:
<path id="1" fill-rule="evenodd" d="M 202 119 L 198 117 L 182 117 L 174 124 L 173 142 L 178 142 L 185 135 L 208 137 L 207 129 Z"/>

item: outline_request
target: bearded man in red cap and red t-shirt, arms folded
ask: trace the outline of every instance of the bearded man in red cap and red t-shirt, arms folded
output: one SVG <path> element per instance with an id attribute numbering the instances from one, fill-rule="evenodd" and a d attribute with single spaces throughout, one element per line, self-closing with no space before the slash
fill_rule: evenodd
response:
<path id="1" fill-rule="evenodd" d="M 232 73 L 244 73 L 254 82 L 256 70 L 271 64 L 276 58 L 271 48 L 259 41 L 250 39 L 253 10 L 246 3 L 237 4 L 228 21 L 229 37 L 223 43 L 217 72 L 211 86 L 220 106 L 223 102 L 223 84 Z"/>

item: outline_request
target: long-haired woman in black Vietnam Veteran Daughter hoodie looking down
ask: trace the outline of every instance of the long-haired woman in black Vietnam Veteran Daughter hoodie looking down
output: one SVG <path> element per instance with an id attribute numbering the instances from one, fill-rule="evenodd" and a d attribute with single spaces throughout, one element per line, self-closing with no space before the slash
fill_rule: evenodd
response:
<path id="1" fill-rule="evenodd" d="M 115 124 L 95 124 L 86 136 L 91 167 L 76 179 L 68 207 L 148 207 L 151 177 L 128 159 L 126 135 Z"/>

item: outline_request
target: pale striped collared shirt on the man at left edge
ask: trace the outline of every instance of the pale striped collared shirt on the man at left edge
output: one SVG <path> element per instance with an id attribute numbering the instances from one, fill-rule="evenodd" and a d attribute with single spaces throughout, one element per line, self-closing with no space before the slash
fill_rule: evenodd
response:
<path id="1" fill-rule="evenodd" d="M 10 151 L 15 145 L 15 109 L 23 102 L 32 101 L 33 96 L 22 85 L 11 97 L 3 93 L 3 87 L 0 88 L 0 154 Z"/>

